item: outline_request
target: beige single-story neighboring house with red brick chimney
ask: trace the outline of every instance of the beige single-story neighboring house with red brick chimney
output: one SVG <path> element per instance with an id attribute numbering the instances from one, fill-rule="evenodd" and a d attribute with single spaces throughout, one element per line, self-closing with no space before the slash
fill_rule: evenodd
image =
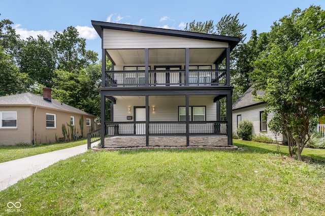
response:
<path id="1" fill-rule="evenodd" d="M 71 123 L 81 136 L 79 119 L 83 116 L 83 136 L 94 129 L 94 115 L 44 95 L 31 93 L 0 97 L 0 145 L 54 143 L 63 138 L 62 124 Z M 68 127 L 67 127 L 68 129 Z"/>

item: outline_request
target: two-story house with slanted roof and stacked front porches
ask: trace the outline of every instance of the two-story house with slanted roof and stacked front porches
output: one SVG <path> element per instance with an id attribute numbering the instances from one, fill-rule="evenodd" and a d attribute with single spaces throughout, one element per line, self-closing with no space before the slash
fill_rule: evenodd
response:
<path id="1" fill-rule="evenodd" d="M 119 137 L 128 137 L 134 147 L 232 145 L 230 53 L 240 38 L 100 21 L 92 25 L 102 38 L 102 147 Z M 222 98 L 226 120 L 220 118 Z"/>

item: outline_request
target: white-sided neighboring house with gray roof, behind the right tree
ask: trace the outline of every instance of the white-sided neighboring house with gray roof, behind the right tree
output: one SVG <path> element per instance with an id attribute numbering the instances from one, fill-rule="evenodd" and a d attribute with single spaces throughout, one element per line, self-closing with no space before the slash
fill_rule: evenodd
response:
<path id="1" fill-rule="evenodd" d="M 253 136 L 263 135 L 278 142 L 286 142 L 284 135 L 275 135 L 268 127 L 268 122 L 274 116 L 274 113 L 266 113 L 266 103 L 257 101 L 252 95 L 253 87 L 250 87 L 234 104 L 233 104 L 233 133 L 237 134 L 237 128 L 240 121 L 248 119 L 253 123 Z M 257 95 L 264 95 L 264 92 L 256 91 Z"/>

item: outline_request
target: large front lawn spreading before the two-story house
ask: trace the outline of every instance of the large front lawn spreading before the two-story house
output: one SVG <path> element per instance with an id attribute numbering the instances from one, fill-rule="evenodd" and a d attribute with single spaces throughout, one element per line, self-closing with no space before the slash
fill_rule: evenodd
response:
<path id="1" fill-rule="evenodd" d="M 88 151 L 1 191 L 0 214 L 17 215 L 10 201 L 22 215 L 324 214 L 323 163 L 282 158 L 275 145 L 234 144 L 243 150 Z"/>

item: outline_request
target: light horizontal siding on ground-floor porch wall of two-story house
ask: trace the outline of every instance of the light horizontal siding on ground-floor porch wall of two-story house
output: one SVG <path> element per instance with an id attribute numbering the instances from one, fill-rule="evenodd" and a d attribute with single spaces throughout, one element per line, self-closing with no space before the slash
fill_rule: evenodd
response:
<path id="1" fill-rule="evenodd" d="M 216 120 L 216 104 L 213 98 L 192 98 L 189 99 L 190 106 L 206 106 L 206 120 Z M 114 104 L 114 121 L 133 121 L 126 120 L 126 116 L 134 117 L 134 106 L 145 106 L 145 97 L 124 97 L 117 99 Z M 149 97 L 149 118 L 150 121 L 178 121 L 178 107 L 185 106 L 185 96 L 167 97 L 152 96 Z M 128 112 L 130 107 L 130 112 Z M 155 107 L 155 111 L 152 111 Z"/>

